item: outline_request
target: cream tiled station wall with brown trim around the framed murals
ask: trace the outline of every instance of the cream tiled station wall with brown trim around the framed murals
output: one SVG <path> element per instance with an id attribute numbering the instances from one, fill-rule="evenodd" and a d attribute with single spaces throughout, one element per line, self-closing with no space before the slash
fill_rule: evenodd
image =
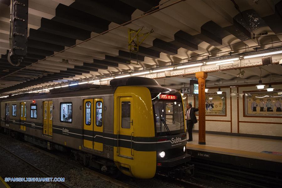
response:
<path id="1" fill-rule="evenodd" d="M 272 86 L 275 87 L 275 89 L 282 89 L 281 84 Z M 221 88 L 221 90 L 223 92 L 226 92 L 227 116 L 206 116 L 207 131 L 244 133 L 279 137 L 282 136 L 282 118 L 243 117 L 243 91 L 257 91 L 256 86 L 232 88 L 228 87 Z M 216 91 L 217 89 L 209 89 L 208 93 Z M 192 101 L 194 105 L 194 97 L 187 97 L 187 101 Z M 194 130 L 199 130 L 198 123 L 194 125 Z"/>

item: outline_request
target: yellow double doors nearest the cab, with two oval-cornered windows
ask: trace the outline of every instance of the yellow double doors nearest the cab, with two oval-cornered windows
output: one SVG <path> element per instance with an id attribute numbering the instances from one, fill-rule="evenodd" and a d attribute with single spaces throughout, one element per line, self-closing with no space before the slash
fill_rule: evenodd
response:
<path id="1" fill-rule="evenodd" d="M 103 99 L 84 99 L 83 108 L 83 146 L 103 151 Z"/>

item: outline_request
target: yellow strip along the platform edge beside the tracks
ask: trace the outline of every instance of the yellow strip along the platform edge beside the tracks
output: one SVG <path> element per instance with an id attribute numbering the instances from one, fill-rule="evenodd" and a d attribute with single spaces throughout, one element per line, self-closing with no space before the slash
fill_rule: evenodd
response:
<path id="1" fill-rule="evenodd" d="M 237 149 L 218 148 L 218 147 L 196 145 L 196 144 L 186 144 L 186 146 L 187 149 L 194 149 L 194 150 L 201 149 L 201 151 L 209 151 L 213 153 L 220 152 L 221 154 L 236 155 L 236 156 L 242 156 L 242 157 L 248 157 L 254 159 L 263 159 L 263 160 L 282 163 L 281 155 L 265 154 L 265 153 L 259 153 L 253 151 L 237 150 Z"/>

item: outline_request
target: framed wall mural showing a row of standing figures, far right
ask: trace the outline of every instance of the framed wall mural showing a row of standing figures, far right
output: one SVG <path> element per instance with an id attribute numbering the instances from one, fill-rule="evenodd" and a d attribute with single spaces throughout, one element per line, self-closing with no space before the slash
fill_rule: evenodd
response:
<path id="1" fill-rule="evenodd" d="M 282 116 L 282 91 L 244 92 L 246 116 Z"/>

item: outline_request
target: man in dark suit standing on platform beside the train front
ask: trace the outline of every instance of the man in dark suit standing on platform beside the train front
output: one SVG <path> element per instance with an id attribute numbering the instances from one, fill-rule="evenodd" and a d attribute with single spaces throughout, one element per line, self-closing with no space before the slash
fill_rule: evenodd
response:
<path id="1" fill-rule="evenodd" d="M 187 105 L 186 124 L 187 124 L 187 130 L 188 130 L 188 135 L 189 135 L 189 139 L 187 140 L 187 142 L 190 142 L 193 140 L 192 128 L 194 126 L 194 123 L 198 123 L 197 118 L 195 116 L 195 112 L 198 112 L 198 111 L 199 109 L 193 108 L 191 103 Z"/>

